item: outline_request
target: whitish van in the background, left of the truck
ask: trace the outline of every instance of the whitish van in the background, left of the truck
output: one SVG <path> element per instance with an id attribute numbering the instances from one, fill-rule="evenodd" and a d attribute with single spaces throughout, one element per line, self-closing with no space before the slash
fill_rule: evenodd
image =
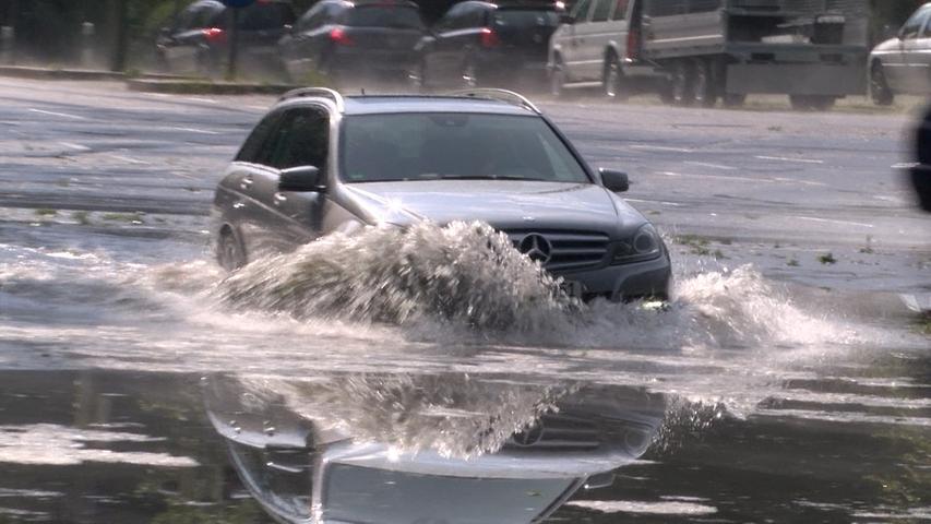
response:
<path id="1" fill-rule="evenodd" d="M 600 87 L 619 99 L 644 88 L 659 91 L 666 76 L 641 59 L 642 3 L 580 0 L 550 39 L 550 92 Z"/>

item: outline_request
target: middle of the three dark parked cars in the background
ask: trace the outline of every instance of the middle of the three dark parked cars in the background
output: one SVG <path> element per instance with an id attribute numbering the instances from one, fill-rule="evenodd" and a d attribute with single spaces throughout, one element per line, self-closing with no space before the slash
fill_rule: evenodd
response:
<path id="1" fill-rule="evenodd" d="M 323 0 L 279 41 L 293 81 L 313 71 L 335 82 L 399 79 L 410 69 L 414 46 L 426 33 L 417 4 L 406 0 Z"/>

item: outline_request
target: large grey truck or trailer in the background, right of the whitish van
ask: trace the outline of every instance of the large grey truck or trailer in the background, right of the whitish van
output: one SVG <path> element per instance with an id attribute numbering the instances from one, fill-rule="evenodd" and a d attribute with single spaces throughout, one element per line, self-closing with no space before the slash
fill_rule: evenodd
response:
<path id="1" fill-rule="evenodd" d="M 785 94 L 827 109 L 867 93 L 869 0 L 643 0 L 641 58 L 679 105 Z"/>

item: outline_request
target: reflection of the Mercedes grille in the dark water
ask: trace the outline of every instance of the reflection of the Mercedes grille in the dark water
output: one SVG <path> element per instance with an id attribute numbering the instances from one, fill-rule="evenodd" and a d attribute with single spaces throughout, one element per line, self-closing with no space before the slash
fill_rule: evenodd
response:
<path id="1" fill-rule="evenodd" d="M 570 415 L 547 414 L 537 426 L 516 433 L 504 444 L 511 449 L 548 449 L 589 451 L 601 445 L 601 436 L 594 421 Z"/>

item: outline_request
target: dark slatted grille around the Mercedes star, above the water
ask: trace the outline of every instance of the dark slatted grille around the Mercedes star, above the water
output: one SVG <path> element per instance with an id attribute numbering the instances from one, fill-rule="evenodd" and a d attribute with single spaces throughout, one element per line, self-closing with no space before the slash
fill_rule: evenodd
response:
<path id="1" fill-rule="evenodd" d="M 521 242 L 528 235 L 536 234 L 546 238 L 552 247 L 552 252 L 544 267 L 557 274 L 598 266 L 608 254 L 610 241 L 608 235 L 600 231 L 520 229 L 504 233 L 518 250 Z"/>

